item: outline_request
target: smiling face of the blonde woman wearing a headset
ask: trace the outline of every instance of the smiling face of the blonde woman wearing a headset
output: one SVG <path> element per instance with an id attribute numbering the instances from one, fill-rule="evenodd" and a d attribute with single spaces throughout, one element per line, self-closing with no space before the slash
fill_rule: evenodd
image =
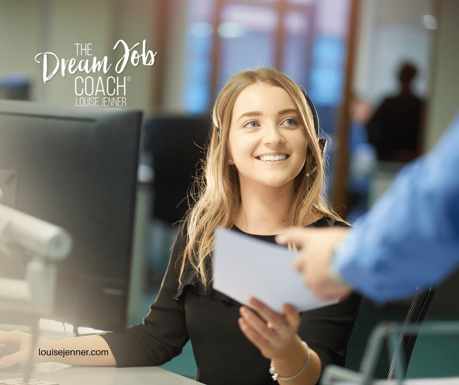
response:
<path id="1" fill-rule="evenodd" d="M 241 188 L 248 184 L 291 187 L 306 160 L 307 140 L 292 98 L 284 88 L 255 83 L 234 103 L 230 158 Z"/>

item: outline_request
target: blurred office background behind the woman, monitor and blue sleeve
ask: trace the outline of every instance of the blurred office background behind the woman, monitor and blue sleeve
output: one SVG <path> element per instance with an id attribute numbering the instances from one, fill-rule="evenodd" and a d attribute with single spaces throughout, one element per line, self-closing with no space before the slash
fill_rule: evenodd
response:
<path id="1" fill-rule="evenodd" d="M 458 17 L 456 0 L 0 0 L 0 98 L 75 105 L 82 74 L 62 77 L 59 69 L 44 84 L 34 60 L 43 52 L 86 59 L 75 43 L 92 43 L 94 56 L 113 63 L 106 75 L 91 76 L 130 77 L 126 105 L 144 111 L 133 324 L 159 289 L 203 157 L 209 111 L 232 74 L 271 65 L 307 91 L 329 138 L 328 195 L 354 221 L 406 161 L 378 160 L 366 128 L 381 102 L 400 91 L 400 65 L 417 67 L 417 154 L 432 148 L 459 108 Z M 116 74 L 120 39 L 140 43 L 137 49 L 145 40 L 157 52 L 154 65 L 127 64 Z M 190 344 L 164 367 L 194 375 Z"/>

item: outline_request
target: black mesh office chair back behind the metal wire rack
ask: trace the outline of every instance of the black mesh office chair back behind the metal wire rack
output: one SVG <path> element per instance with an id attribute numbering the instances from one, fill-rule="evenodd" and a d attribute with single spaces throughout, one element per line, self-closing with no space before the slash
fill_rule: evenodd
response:
<path id="1" fill-rule="evenodd" d="M 424 320 L 427 309 L 434 296 L 434 289 L 416 290 L 408 295 L 391 301 L 384 306 L 376 306 L 371 300 L 363 299 L 349 338 L 344 367 L 359 372 L 369 337 L 377 325 L 382 322 L 396 322 L 400 325 L 419 324 Z M 406 333 L 398 339 L 398 346 L 403 352 L 404 374 L 410 361 L 416 342 L 416 333 Z M 395 376 L 395 359 L 384 342 L 378 364 L 373 372 L 375 379 L 392 379 Z"/>

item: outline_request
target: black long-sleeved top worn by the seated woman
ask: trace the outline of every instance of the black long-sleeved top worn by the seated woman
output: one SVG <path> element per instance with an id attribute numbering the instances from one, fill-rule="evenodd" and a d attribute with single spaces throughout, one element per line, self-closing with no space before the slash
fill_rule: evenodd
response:
<path id="1" fill-rule="evenodd" d="M 330 224 L 330 218 L 322 218 L 310 226 Z M 274 235 L 252 236 L 274 242 Z M 241 304 L 212 287 L 204 290 L 189 264 L 185 266 L 183 284 L 178 284 L 176 261 L 185 242 L 186 234 L 181 231 L 158 297 L 144 322 L 123 333 L 102 334 L 117 366 L 164 364 L 180 354 L 190 339 L 197 381 L 208 385 L 272 385 L 270 360 L 247 340 L 237 323 Z M 318 354 L 322 368 L 331 363 L 344 365 L 360 300 L 360 296 L 352 294 L 337 304 L 302 313 L 298 335 Z"/>

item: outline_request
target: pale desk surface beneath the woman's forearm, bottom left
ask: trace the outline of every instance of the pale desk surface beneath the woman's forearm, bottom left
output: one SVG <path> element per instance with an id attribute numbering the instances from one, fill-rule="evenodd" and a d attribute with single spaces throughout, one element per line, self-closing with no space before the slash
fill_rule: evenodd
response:
<path id="1" fill-rule="evenodd" d="M 21 378 L 23 371 L 0 371 L 0 379 Z M 35 365 L 32 378 L 59 385 L 197 385 L 196 381 L 155 366 L 105 367 L 46 363 Z"/>

